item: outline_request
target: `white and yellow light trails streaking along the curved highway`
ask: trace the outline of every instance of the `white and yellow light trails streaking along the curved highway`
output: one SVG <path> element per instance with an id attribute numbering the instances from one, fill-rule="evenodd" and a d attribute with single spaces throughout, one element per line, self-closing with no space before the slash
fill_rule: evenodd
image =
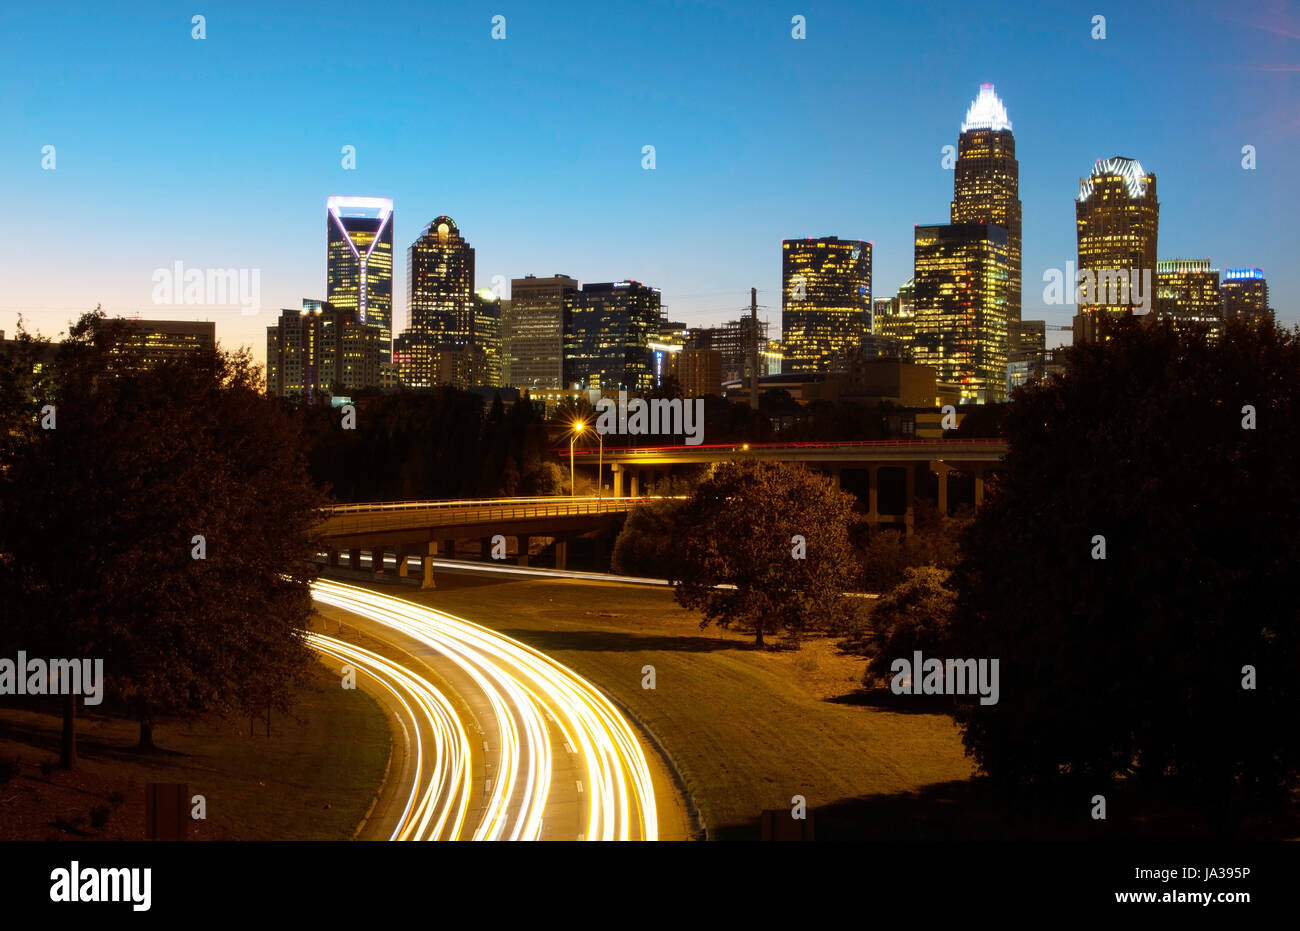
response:
<path id="1" fill-rule="evenodd" d="M 463 670 L 482 692 L 495 719 L 500 759 L 484 814 L 472 833 L 474 840 L 537 840 L 541 836 L 552 781 L 547 718 L 555 723 L 560 740 L 576 750 L 585 770 L 582 836 L 586 840 L 658 839 L 654 787 L 641 744 L 619 710 L 594 685 L 526 644 L 445 611 L 325 580 L 315 583 L 312 592 L 324 605 L 368 618 L 432 648 Z M 341 642 L 328 645 L 341 654 Z M 321 649 L 316 641 L 312 645 Z M 416 703 L 426 715 L 441 718 L 450 710 L 446 698 L 422 676 L 395 667 L 382 657 L 369 657 L 376 668 L 400 683 L 403 689 L 422 689 Z M 439 727 L 446 727 L 446 722 L 433 727 L 436 735 Z M 458 749 L 452 752 L 452 746 Z M 416 789 L 412 791 L 404 820 L 434 820 L 434 827 L 450 824 L 455 827 L 450 836 L 460 837 L 463 819 L 456 820 L 450 811 L 464 804 L 468 793 L 469 742 L 463 729 L 459 736 L 447 731 L 436 739 L 434 749 L 439 755 L 436 778 L 428 780 L 420 801 L 413 801 Z M 447 761 L 441 759 L 445 752 L 451 754 Z M 458 767 L 458 761 L 464 766 Z M 462 778 L 465 792 L 452 791 L 450 784 L 459 787 Z M 439 832 L 437 836 L 448 835 Z"/>

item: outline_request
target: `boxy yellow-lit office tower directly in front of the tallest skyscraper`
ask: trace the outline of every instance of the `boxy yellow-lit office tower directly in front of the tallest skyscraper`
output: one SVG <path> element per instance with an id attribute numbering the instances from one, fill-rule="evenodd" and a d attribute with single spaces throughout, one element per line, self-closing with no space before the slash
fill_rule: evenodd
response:
<path id="1" fill-rule="evenodd" d="M 963 403 L 1006 397 L 1006 230 L 991 224 L 918 226 L 913 359 Z"/>

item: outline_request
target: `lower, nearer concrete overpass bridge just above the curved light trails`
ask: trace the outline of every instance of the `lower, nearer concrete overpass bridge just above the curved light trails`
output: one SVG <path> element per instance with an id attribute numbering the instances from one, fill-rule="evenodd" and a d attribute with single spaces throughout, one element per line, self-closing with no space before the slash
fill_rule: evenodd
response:
<path id="1" fill-rule="evenodd" d="M 421 586 L 433 588 L 433 560 L 455 555 L 456 540 L 477 537 L 482 553 L 491 538 L 514 538 L 517 564 L 528 566 L 532 537 L 555 540 L 555 568 L 566 568 L 568 541 L 604 528 L 615 515 L 638 501 L 624 498 L 474 498 L 465 501 L 395 501 L 368 505 L 338 505 L 324 508 L 318 528 L 330 567 L 361 568 L 361 554 L 370 558 L 370 571 L 385 567 L 389 554 L 396 558 L 398 576 L 410 576 L 410 560 L 419 557 Z"/>

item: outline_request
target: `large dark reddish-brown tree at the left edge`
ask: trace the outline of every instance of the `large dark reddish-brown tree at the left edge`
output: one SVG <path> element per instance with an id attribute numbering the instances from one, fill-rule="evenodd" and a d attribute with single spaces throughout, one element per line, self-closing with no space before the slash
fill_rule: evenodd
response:
<path id="1" fill-rule="evenodd" d="M 103 658 L 148 749 L 157 716 L 287 701 L 309 661 L 321 499 L 246 351 L 146 369 L 122 325 L 96 313 L 70 329 L 57 428 L 6 463 L 0 623 L 51 655 Z M 65 709 L 65 735 L 74 724 Z"/>

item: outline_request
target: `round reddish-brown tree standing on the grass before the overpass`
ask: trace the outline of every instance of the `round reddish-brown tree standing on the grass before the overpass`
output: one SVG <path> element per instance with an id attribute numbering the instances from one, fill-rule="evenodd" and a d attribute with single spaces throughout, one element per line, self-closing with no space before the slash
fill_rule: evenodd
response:
<path id="1" fill-rule="evenodd" d="M 681 555 L 676 599 L 710 623 L 793 638 L 844 623 L 857 571 L 849 544 L 853 497 L 802 467 L 723 463 L 675 521 Z M 720 588 L 733 586 L 733 588 Z"/>

